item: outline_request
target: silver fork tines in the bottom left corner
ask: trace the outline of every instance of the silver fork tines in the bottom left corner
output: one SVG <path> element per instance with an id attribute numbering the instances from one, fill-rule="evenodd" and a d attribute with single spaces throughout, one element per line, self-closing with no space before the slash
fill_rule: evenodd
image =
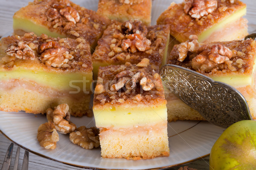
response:
<path id="1" fill-rule="evenodd" d="M 10 168 L 13 145 L 14 145 L 13 143 L 10 144 L 10 146 L 7 149 L 6 156 L 4 158 L 3 166 L 2 166 L 1 170 L 9 170 L 9 168 Z M 18 168 L 19 157 L 20 157 L 20 147 L 18 147 L 17 151 L 16 151 L 13 170 L 17 170 L 17 168 Z M 25 150 L 21 170 L 28 170 L 28 168 L 29 168 L 29 152 L 27 150 Z"/>

